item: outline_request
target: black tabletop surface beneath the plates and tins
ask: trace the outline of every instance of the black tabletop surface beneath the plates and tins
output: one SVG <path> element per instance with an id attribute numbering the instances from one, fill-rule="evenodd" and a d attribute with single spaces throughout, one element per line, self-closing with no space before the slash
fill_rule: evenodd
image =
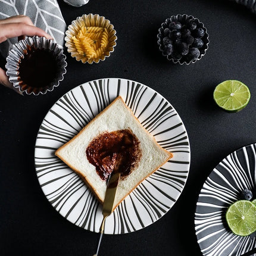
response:
<path id="1" fill-rule="evenodd" d="M 124 235 L 104 235 L 100 255 L 202 255 L 195 235 L 195 206 L 205 179 L 226 155 L 256 141 L 256 15 L 226 0 L 103 1 L 76 8 L 58 1 L 68 24 L 82 14 L 108 18 L 117 31 L 110 58 L 82 64 L 67 55 L 67 74 L 46 95 L 18 95 L 0 86 L 0 251 L 1 255 L 93 255 L 98 233 L 57 213 L 40 188 L 34 150 L 43 118 L 54 103 L 90 80 L 118 77 L 156 90 L 176 109 L 191 144 L 185 189 L 160 220 Z M 157 46 L 158 28 L 171 15 L 198 18 L 210 35 L 208 51 L 190 65 L 171 64 Z M 4 61 L 2 61 L 4 65 Z M 245 83 L 251 99 L 236 114 L 213 101 L 218 83 Z"/>

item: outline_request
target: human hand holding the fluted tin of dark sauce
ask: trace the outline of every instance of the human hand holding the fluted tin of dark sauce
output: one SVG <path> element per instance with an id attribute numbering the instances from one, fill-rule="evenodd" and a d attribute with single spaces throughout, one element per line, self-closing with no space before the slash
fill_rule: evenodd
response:
<path id="1" fill-rule="evenodd" d="M 8 38 L 18 37 L 18 40 L 21 40 L 25 36 L 44 36 L 45 38 L 52 39 L 45 31 L 35 27 L 27 16 L 18 15 L 0 20 L 0 43 Z M 0 84 L 14 89 L 22 95 L 20 90 L 14 88 L 12 83 L 9 82 L 8 76 L 2 68 L 0 68 Z"/>

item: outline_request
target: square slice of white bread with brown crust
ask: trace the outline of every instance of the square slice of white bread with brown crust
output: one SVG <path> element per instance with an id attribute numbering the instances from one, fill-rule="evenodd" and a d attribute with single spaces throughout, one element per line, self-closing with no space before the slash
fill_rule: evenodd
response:
<path id="1" fill-rule="evenodd" d="M 96 115 L 83 129 L 57 149 L 55 155 L 64 161 L 83 179 L 96 195 L 99 202 L 104 201 L 107 182 L 96 171 L 86 155 L 90 142 L 105 132 L 130 130 L 138 138 L 139 161 L 127 176 L 120 179 L 115 196 L 114 208 L 129 195 L 143 180 L 163 166 L 173 154 L 161 148 L 152 136 L 133 115 L 121 96 L 118 96 L 101 113 Z"/>

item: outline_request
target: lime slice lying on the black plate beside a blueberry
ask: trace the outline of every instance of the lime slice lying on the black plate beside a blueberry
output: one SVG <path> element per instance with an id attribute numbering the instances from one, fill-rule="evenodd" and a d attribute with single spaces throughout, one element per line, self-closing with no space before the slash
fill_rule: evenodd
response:
<path id="1" fill-rule="evenodd" d="M 256 206 L 248 200 L 236 201 L 227 209 L 226 220 L 233 233 L 248 236 L 256 231 Z"/>

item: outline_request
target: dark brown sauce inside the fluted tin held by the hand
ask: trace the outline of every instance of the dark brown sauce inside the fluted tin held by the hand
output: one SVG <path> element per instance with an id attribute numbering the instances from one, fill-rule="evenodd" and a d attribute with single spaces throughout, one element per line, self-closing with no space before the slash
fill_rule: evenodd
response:
<path id="1" fill-rule="evenodd" d="M 38 49 L 28 46 L 24 58 L 18 64 L 19 84 L 33 88 L 49 86 L 57 75 L 58 64 L 52 52 L 48 49 Z"/>

